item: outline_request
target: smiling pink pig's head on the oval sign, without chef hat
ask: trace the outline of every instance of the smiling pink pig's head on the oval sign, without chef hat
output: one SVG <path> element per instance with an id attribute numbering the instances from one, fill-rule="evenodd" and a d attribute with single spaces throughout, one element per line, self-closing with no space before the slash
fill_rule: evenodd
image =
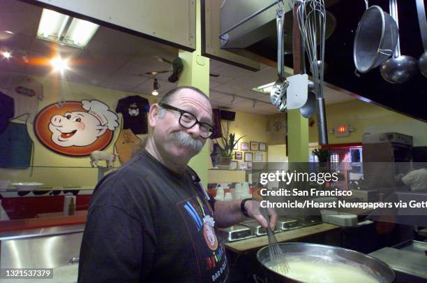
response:
<path id="1" fill-rule="evenodd" d="M 95 116 L 77 111 L 54 115 L 49 123 L 52 141 L 61 147 L 91 145 L 107 129 Z"/>

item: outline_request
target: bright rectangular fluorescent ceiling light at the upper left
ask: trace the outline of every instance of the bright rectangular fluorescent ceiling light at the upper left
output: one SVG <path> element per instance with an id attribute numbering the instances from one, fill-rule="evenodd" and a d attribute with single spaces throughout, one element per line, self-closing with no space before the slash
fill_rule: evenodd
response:
<path id="1" fill-rule="evenodd" d="M 43 9 L 37 38 L 84 48 L 98 29 L 98 24 L 63 15 L 54 10 Z"/>

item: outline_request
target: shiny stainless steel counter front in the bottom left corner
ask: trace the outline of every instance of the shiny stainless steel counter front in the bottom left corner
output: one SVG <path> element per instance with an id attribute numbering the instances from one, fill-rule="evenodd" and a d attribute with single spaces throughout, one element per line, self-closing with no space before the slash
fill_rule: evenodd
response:
<path id="1" fill-rule="evenodd" d="M 52 268 L 53 279 L 36 283 L 77 282 L 84 224 L 0 233 L 0 268 Z M 22 282 L 5 280 L 0 282 Z"/>

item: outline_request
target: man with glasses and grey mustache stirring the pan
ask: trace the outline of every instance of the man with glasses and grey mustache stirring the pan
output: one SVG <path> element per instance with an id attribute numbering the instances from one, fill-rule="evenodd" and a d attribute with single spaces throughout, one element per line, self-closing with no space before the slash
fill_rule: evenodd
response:
<path id="1" fill-rule="evenodd" d="M 149 110 L 147 145 L 97 185 L 78 282 L 229 282 L 216 228 L 267 221 L 256 202 L 214 201 L 187 164 L 213 132 L 207 96 L 178 87 Z M 277 215 L 271 214 L 271 227 Z"/>

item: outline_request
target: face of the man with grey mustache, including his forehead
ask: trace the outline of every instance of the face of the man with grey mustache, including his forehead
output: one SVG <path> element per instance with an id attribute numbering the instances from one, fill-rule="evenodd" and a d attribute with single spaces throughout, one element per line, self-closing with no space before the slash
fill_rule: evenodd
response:
<path id="1" fill-rule="evenodd" d="M 181 89 L 168 104 L 186 110 L 197 117 L 199 122 L 212 124 L 212 108 L 209 100 L 193 89 Z M 165 111 L 165 110 L 163 110 Z M 166 110 L 163 117 L 150 118 L 156 147 L 164 158 L 188 162 L 199 153 L 206 139 L 200 136 L 200 125 L 186 129 L 179 124 L 180 113 Z"/>

